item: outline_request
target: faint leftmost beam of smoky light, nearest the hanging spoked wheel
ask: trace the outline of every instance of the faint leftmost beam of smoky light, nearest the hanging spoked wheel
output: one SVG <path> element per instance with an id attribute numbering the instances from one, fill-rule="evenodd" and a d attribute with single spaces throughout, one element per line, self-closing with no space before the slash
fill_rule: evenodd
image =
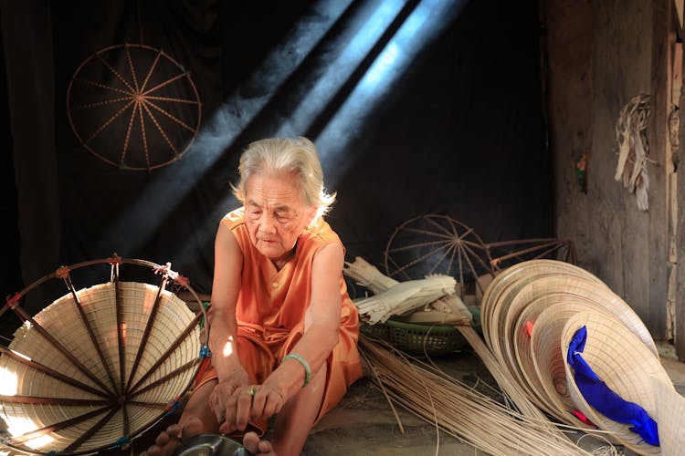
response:
<path id="1" fill-rule="evenodd" d="M 184 199 L 250 121 L 267 106 L 351 1 L 321 0 L 313 5 L 293 26 L 282 45 L 273 49 L 250 75 L 246 85 L 263 88 L 261 95 L 251 93 L 244 98 L 238 88 L 227 98 L 197 133 L 184 160 L 155 172 L 144 192 L 101 233 L 94 252 L 109 254 L 116 251 L 127 256 L 145 244 L 174 211 L 174 202 Z"/>

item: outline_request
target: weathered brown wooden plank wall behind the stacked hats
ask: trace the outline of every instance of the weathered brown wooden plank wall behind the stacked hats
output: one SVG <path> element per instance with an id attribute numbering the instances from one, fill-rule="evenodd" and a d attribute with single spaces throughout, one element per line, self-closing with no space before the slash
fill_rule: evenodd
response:
<path id="1" fill-rule="evenodd" d="M 675 27 L 671 0 L 541 0 L 543 76 L 554 161 L 559 237 L 578 263 L 633 307 L 652 337 L 669 337 L 667 295 L 674 170 L 669 83 Z M 648 211 L 614 179 L 620 109 L 650 95 Z M 585 187 L 575 171 L 587 154 Z M 673 291 L 673 290 L 671 290 Z M 685 356 L 685 353 L 683 354 Z"/>

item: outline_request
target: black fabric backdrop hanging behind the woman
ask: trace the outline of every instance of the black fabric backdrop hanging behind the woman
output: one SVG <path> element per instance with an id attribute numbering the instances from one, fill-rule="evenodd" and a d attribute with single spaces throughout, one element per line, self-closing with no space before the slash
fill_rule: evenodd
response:
<path id="1" fill-rule="evenodd" d="M 338 192 L 338 202 L 329 222 L 350 260 L 363 256 L 383 264 L 395 227 L 425 213 L 466 223 L 485 242 L 553 235 L 536 3 L 445 2 L 458 14 L 369 109 L 342 158 L 324 167 L 327 175 L 339 174 L 330 189 Z M 319 3 L 326 4 L 3 1 L 3 210 L 10 232 L 5 295 L 61 264 L 115 252 L 171 262 L 196 291 L 210 293 L 216 223 L 236 205 L 228 184 L 237 178 L 240 151 L 279 131 L 306 94 L 312 62 L 321 71 L 339 57 L 342 48 L 332 43 L 344 33 L 345 15 L 382 2 L 350 2 L 277 97 L 233 140 L 217 142 L 216 161 L 207 159 L 201 148 L 208 142 L 201 141 L 161 170 L 120 171 L 100 161 L 70 129 L 69 81 L 93 52 L 144 43 L 163 48 L 190 71 L 203 102 L 203 127 L 216 122 L 213 116 L 231 97 L 231 119 L 239 119 L 240 103 L 269 88 L 269 73 L 255 83 L 256 68 Z M 330 22 L 328 10 L 318 11 L 307 13 L 308 26 Z M 327 119 L 297 133 L 316 140 Z M 338 173 L 345 163 L 349 169 Z M 83 272 L 77 286 L 100 283 L 100 273 Z M 31 292 L 26 306 L 35 311 L 63 292 L 59 286 Z"/>

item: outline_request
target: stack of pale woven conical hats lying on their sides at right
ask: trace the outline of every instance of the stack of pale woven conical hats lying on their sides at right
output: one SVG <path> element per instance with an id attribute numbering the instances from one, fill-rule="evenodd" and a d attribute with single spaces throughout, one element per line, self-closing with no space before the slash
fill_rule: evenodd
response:
<path id="1" fill-rule="evenodd" d="M 659 408 L 655 385 L 667 390 L 661 396 L 678 395 L 648 328 L 599 278 L 574 264 L 551 259 L 514 264 L 485 290 L 480 314 L 483 337 L 493 356 L 511 381 L 553 419 L 589 433 L 599 430 L 608 440 L 639 454 L 661 452 L 629 430 L 630 425 L 609 420 L 593 409 L 566 362 L 572 337 L 585 326 L 583 358 L 621 398 L 637 403 L 657 420 L 658 409 L 664 415 L 668 412 Z M 676 420 L 685 418 L 680 415 Z M 660 426 L 659 430 L 663 439 L 665 432 Z"/>

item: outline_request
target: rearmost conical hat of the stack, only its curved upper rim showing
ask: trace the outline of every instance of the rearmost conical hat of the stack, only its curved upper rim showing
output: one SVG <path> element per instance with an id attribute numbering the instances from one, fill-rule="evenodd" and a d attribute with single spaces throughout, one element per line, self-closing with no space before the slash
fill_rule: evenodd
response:
<path id="1" fill-rule="evenodd" d="M 606 287 L 604 282 L 602 282 L 598 277 L 589 271 L 563 261 L 553 259 L 537 259 L 514 264 L 496 275 L 483 294 L 480 304 L 480 320 L 483 336 L 485 339 L 488 340 L 490 337 L 490 322 L 492 321 L 490 314 L 493 307 L 498 305 L 500 295 L 506 286 L 510 285 L 511 282 L 518 281 L 521 275 L 553 273 L 578 275 L 579 277 L 585 277 L 586 279 L 595 282 L 597 285 Z"/>

